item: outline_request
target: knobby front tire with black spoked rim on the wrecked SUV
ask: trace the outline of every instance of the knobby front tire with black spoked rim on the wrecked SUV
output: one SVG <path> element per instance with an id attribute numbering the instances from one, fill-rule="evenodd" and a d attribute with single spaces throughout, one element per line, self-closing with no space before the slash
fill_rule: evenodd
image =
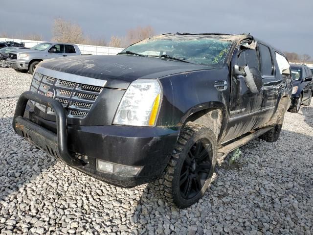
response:
<path id="1" fill-rule="evenodd" d="M 213 131 L 188 122 L 180 132 L 165 169 L 162 195 L 179 208 L 196 203 L 209 186 L 216 158 L 217 142 Z"/>

